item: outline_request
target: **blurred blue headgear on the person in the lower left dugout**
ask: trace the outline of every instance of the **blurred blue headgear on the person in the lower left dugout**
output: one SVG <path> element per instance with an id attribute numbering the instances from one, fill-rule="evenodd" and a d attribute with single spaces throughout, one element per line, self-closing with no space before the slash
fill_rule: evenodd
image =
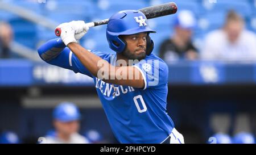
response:
<path id="1" fill-rule="evenodd" d="M 80 112 L 77 106 L 70 102 L 60 103 L 53 111 L 53 118 L 60 122 L 70 122 L 80 119 Z"/>

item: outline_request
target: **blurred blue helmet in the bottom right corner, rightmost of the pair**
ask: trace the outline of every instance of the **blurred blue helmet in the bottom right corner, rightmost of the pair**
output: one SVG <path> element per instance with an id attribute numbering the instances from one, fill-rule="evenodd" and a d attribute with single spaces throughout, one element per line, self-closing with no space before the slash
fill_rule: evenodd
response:
<path id="1" fill-rule="evenodd" d="M 234 144 L 255 144 L 253 134 L 249 132 L 240 132 L 233 137 Z"/>

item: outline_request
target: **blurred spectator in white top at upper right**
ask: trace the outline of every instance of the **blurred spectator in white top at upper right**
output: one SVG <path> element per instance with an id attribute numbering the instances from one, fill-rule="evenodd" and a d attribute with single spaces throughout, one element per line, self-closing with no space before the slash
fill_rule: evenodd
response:
<path id="1" fill-rule="evenodd" d="M 201 58 L 204 60 L 256 60 L 255 33 L 244 29 L 243 18 L 229 11 L 224 27 L 205 37 Z"/>

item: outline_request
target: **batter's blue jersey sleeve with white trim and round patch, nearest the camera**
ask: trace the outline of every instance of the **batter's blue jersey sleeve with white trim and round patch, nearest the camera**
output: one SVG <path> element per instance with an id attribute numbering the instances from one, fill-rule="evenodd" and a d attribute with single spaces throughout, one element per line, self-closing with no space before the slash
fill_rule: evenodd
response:
<path id="1" fill-rule="evenodd" d="M 144 79 L 144 89 L 166 85 L 168 82 L 168 66 L 158 59 L 145 59 L 134 65 Z"/>

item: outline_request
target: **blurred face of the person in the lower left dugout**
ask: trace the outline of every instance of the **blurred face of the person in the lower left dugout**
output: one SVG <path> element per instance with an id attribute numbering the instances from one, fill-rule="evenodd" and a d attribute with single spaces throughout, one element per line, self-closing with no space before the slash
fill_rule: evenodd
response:
<path id="1" fill-rule="evenodd" d="M 58 132 L 61 132 L 64 135 L 71 135 L 72 133 L 79 131 L 79 121 L 60 122 L 56 120 L 55 128 Z"/>

